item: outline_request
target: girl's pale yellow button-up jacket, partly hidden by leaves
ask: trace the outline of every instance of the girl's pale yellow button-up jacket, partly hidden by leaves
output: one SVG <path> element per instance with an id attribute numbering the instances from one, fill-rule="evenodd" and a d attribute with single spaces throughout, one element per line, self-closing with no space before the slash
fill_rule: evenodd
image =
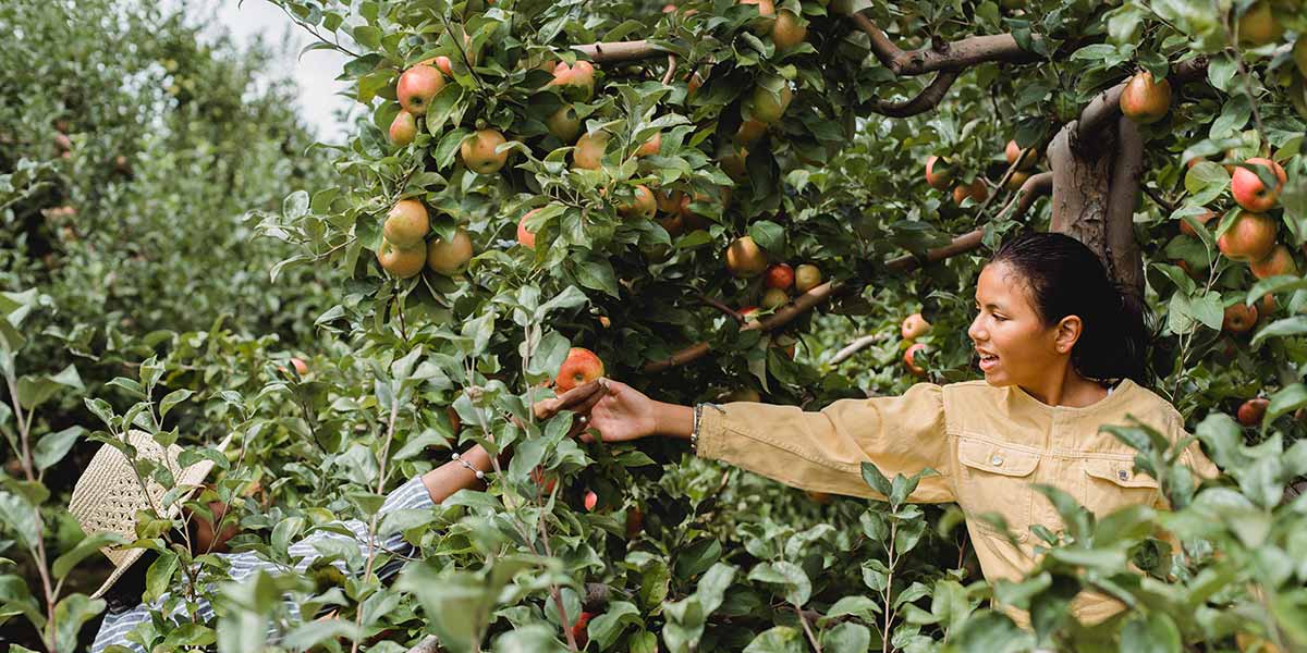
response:
<path id="1" fill-rule="evenodd" d="M 1157 481 L 1134 471 L 1134 449 L 1099 432 L 1129 424 L 1127 415 L 1172 443 L 1185 436 L 1180 414 L 1128 379 L 1086 407 L 1048 406 L 1021 388 L 984 381 L 923 383 L 901 397 L 839 400 L 818 413 L 752 402 L 704 405 L 698 453 L 788 486 L 882 500 L 863 481 L 863 462 L 889 478 L 935 469 L 938 475 L 921 479 L 908 500 L 958 503 L 980 568 L 993 582 L 1019 580 L 1035 564 L 1038 538 L 1030 526 L 1061 528 L 1052 504 L 1031 483 L 1069 492 L 1098 517 L 1131 504 L 1167 507 Z M 1218 474 L 1197 443 L 1182 460 L 1199 477 Z M 976 518 L 987 512 L 1006 520 L 1017 547 Z M 1081 593 L 1072 603 L 1086 623 L 1121 607 L 1097 593 Z M 1022 611 L 1006 611 L 1029 624 Z"/>

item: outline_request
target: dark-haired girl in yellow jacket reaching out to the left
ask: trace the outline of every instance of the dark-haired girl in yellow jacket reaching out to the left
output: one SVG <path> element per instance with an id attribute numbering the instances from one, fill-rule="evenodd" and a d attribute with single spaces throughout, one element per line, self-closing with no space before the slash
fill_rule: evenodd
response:
<path id="1" fill-rule="evenodd" d="M 589 423 L 605 441 L 689 439 L 701 457 L 819 492 L 881 498 L 863 481 L 864 461 L 887 477 L 932 468 L 938 474 L 910 500 L 962 507 L 991 582 L 1019 580 L 1034 565 L 1031 526 L 1060 526 L 1031 483 L 1056 486 L 1097 516 L 1129 504 L 1166 507 L 1157 481 L 1134 473 L 1134 451 L 1099 432 L 1133 417 L 1172 443 L 1185 435 L 1180 414 L 1144 387 L 1144 313 L 1098 256 L 1061 234 L 1021 235 L 982 270 L 975 304 L 967 336 L 983 381 L 921 383 L 901 397 L 839 400 L 818 413 L 752 402 L 691 409 L 609 381 Z M 1218 473 L 1196 444 L 1183 461 L 1200 477 Z M 1016 546 L 979 518 L 984 513 L 1006 521 Z M 1087 623 L 1120 609 L 1091 593 L 1072 605 Z M 1029 626 L 1023 613 L 1008 613 Z"/>

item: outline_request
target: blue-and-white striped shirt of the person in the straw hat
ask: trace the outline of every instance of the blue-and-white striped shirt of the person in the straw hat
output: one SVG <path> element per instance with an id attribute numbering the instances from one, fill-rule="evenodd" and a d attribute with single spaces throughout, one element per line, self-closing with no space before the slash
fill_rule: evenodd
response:
<path id="1" fill-rule="evenodd" d="M 378 511 L 378 515 L 386 515 L 392 511 L 425 509 L 425 508 L 431 508 L 433 505 L 435 504 L 431 502 L 431 495 L 427 492 L 426 485 L 422 483 L 422 477 L 413 477 L 406 483 L 404 483 L 403 486 L 392 491 L 389 495 L 387 495 L 386 502 L 382 504 L 380 511 Z M 295 542 L 294 545 L 290 546 L 289 551 L 290 558 L 298 559 L 293 569 L 301 573 L 305 572 L 305 569 L 307 569 L 308 565 L 314 563 L 314 560 L 322 556 L 322 554 L 314 545 L 324 542 L 327 539 L 352 542 L 357 545 L 362 555 L 366 556 L 367 524 L 359 520 L 349 520 L 340 524 L 344 525 L 346 529 L 349 529 L 349 532 L 353 533 L 354 537 L 350 538 L 349 535 L 344 535 L 341 533 L 332 533 L 327 530 L 318 530 L 312 533 L 305 539 L 301 539 L 299 542 Z M 376 551 L 387 552 L 391 556 L 393 556 L 391 562 L 386 563 L 384 565 L 382 565 L 380 569 L 376 571 L 376 575 L 382 579 L 389 577 L 395 572 L 397 572 L 406 562 L 406 558 L 413 552 L 413 546 L 404 541 L 401 533 L 396 533 L 387 538 L 376 539 L 375 542 L 376 542 Z M 265 571 L 272 575 L 291 571 L 290 567 L 271 560 L 260 559 L 256 554 L 248 551 L 240 554 L 216 554 L 216 555 L 223 558 L 223 560 L 227 564 L 230 564 L 230 580 L 233 581 L 246 580 L 248 577 L 252 577 L 259 571 Z M 345 560 L 336 559 L 332 560 L 331 564 L 339 568 L 342 573 L 348 573 Z M 159 606 L 162 606 L 166 599 L 167 594 L 165 593 L 163 596 L 158 597 L 149 605 L 140 603 L 135 607 L 119 613 L 106 613 L 105 622 L 101 623 L 99 632 L 95 635 L 95 641 L 90 646 L 91 653 L 102 653 L 107 646 L 112 645 L 125 646 L 133 652 L 145 653 L 145 649 L 141 648 L 139 644 L 128 641 L 127 635 L 137 626 L 149 622 L 150 613 L 152 611 L 157 613 L 159 610 Z M 196 601 L 196 603 L 197 603 L 196 614 L 200 618 L 200 620 L 205 623 L 210 622 L 213 619 L 213 606 L 209 605 L 209 601 L 207 598 L 200 597 Z M 289 599 L 286 601 L 286 606 L 291 613 L 291 616 L 298 620 L 299 606 Z M 184 620 L 186 606 L 182 605 L 174 609 L 171 618 L 178 623 Z M 272 631 L 274 629 L 276 626 L 273 626 L 269 633 L 273 633 Z"/>

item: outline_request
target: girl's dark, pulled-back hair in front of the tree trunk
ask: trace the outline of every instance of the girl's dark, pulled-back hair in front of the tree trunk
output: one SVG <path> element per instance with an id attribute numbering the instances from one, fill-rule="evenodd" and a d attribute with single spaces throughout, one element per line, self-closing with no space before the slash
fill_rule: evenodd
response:
<path id="1" fill-rule="evenodd" d="M 1080 317 L 1084 330 L 1070 353 L 1077 374 L 1103 384 L 1131 379 L 1149 385 L 1148 308 L 1133 290 L 1107 277 L 1093 249 L 1065 234 L 1023 232 L 989 263 L 1012 265 L 1023 277 L 1044 324 Z"/>

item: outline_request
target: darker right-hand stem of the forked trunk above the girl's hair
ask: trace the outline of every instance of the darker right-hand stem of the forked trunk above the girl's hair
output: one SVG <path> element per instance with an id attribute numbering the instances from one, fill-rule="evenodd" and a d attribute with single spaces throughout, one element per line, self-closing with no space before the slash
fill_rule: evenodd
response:
<path id="1" fill-rule="evenodd" d="M 1134 205 L 1144 174 L 1144 140 L 1134 120 L 1121 116 L 1116 125 L 1116 161 L 1107 192 L 1107 261 L 1112 278 L 1142 298 L 1144 263 L 1134 240 Z"/>

